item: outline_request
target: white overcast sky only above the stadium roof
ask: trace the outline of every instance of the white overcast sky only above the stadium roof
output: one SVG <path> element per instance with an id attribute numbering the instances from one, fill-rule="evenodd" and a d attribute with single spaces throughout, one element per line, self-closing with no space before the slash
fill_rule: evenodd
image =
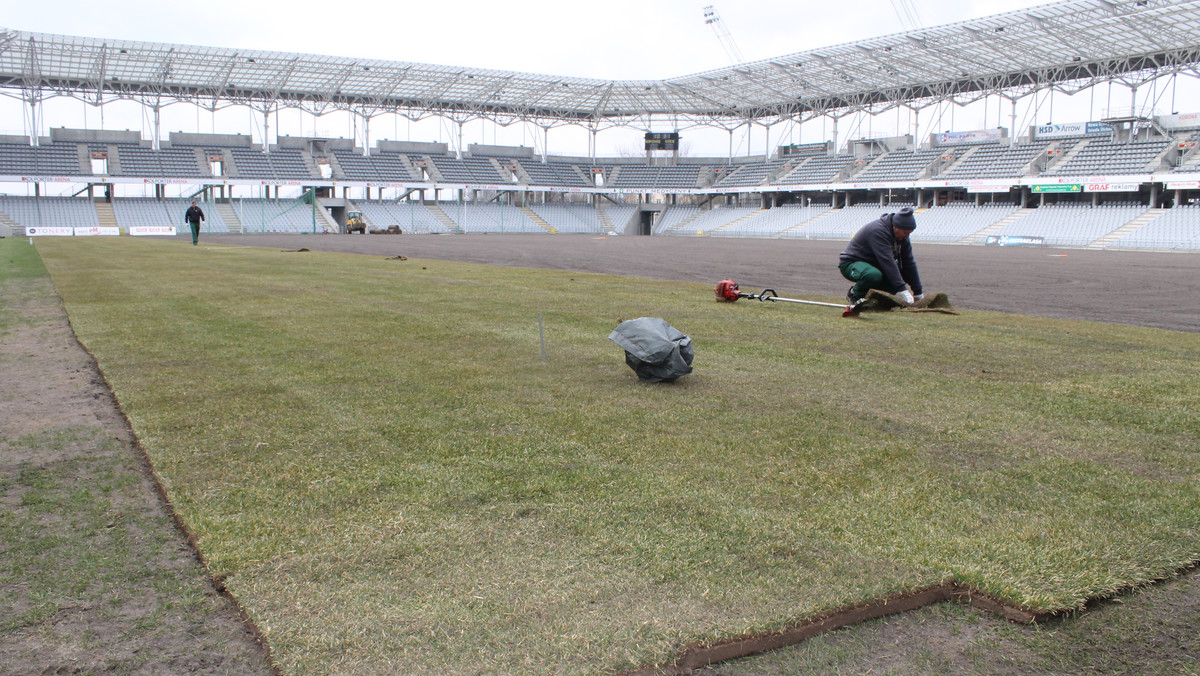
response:
<path id="1" fill-rule="evenodd" d="M 745 60 L 934 26 L 1030 0 L 60 0 L 0 1 L 0 25 L 150 42 L 304 52 L 604 79 L 661 79 L 731 64 L 712 4 Z M 901 20 L 898 7 L 908 7 Z"/>

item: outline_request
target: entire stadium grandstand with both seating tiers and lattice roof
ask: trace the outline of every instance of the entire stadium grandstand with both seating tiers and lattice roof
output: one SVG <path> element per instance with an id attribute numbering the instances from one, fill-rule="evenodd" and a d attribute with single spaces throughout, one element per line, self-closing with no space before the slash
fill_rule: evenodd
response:
<path id="1" fill-rule="evenodd" d="M 29 120 L 49 96 L 132 100 L 155 120 L 0 136 L 0 234 L 181 226 L 198 199 L 205 228 L 228 233 L 340 233 L 356 213 L 368 232 L 845 239 L 911 205 L 916 241 L 1196 251 L 1200 114 L 1140 106 L 1136 91 L 1195 79 L 1198 64 L 1200 1 L 1180 0 L 1055 2 L 664 80 L 0 29 L 0 92 Z M 1102 85 L 1111 96 L 1115 83 L 1130 106 L 1018 128 L 1019 101 Z M 851 114 L 989 97 L 1010 102 L 1007 126 L 923 133 L 918 118 L 910 133 L 839 138 Z M 263 110 L 263 133 L 164 136 L 158 113 L 173 103 Z M 266 112 L 280 108 L 343 110 L 362 136 L 271 137 Z M 458 138 L 376 140 L 380 114 L 443 115 Z M 646 154 L 464 144 L 466 120 L 631 127 L 647 132 Z M 814 120 L 830 122 L 826 140 L 738 157 L 678 148 L 698 126 Z"/>

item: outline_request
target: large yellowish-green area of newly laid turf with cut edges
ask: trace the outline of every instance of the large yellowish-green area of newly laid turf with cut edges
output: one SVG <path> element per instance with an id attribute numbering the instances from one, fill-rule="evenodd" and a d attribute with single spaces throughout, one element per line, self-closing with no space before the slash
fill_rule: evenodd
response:
<path id="1" fill-rule="evenodd" d="M 1200 558 L 1196 334 L 37 249 L 288 672 L 613 672 L 947 580 L 1050 611 Z M 636 379 L 607 335 L 640 316 L 692 337 L 695 373 Z"/>

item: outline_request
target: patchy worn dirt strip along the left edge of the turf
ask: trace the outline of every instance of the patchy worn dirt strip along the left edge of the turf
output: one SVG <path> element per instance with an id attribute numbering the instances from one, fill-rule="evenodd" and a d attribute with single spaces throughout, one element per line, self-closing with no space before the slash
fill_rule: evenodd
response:
<path id="1" fill-rule="evenodd" d="M 0 294 L 0 674 L 272 674 L 49 280 Z"/>

